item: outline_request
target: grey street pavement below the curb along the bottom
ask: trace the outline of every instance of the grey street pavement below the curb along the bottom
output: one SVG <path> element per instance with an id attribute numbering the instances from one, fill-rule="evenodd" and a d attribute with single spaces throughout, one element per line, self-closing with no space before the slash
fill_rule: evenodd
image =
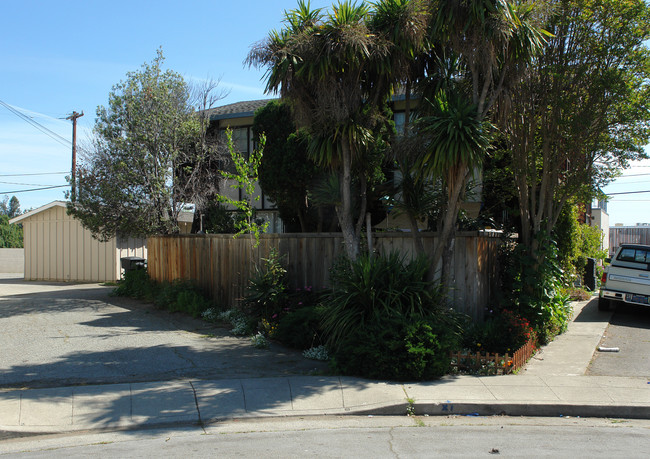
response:
<path id="1" fill-rule="evenodd" d="M 205 428 L 16 439 L 0 455 L 87 457 L 647 457 L 647 421 L 581 418 L 325 417 Z"/>

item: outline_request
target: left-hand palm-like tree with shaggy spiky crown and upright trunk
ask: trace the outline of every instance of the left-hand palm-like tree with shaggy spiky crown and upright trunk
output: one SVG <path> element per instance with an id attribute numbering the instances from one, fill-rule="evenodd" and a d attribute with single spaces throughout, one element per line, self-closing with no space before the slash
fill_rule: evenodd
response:
<path id="1" fill-rule="evenodd" d="M 285 27 L 272 31 L 247 59 L 267 69 L 267 91 L 279 91 L 290 102 L 296 124 L 311 136 L 315 161 L 338 174 L 336 210 L 352 260 L 359 255 L 372 175 L 364 160 L 397 79 L 390 68 L 391 43 L 373 30 L 371 17 L 365 3 L 342 2 L 323 13 L 299 1 L 285 13 Z"/>

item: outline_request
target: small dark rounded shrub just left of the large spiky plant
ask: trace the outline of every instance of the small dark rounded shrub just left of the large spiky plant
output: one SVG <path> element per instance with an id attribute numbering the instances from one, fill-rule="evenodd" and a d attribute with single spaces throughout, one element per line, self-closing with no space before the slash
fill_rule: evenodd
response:
<path id="1" fill-rule="evenodd" d="M 286 314 L 279 320 L 273 338 L 301 350 L 322 344 L 321 322 L 325 311 L 323 306 L 306 306 Z"/>

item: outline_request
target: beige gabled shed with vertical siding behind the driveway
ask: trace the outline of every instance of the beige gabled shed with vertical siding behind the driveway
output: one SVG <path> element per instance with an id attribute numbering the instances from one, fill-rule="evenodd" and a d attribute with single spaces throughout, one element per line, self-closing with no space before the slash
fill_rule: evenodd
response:
<path id="1" fill-rule="evenodd" d="M 121 257 L 146 258 L 143 239 L 93 239 L 81 222 L 55 205 L 21 221 L 25 240 L 25 279 L 110 282 L 121 277 Z"/>

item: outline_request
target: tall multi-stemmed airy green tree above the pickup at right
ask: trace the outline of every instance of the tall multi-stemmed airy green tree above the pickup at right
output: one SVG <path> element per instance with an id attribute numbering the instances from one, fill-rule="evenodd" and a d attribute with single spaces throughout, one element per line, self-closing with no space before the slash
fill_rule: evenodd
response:
<path id="1" fill-rule="evenodd" d="M 574 198 L 591 202 L 650 139 L 650 8 L 643 0 L 562 0 L 542 55 L 514 87 L 502 125 L 521 237 L 534 255 Z"/>

